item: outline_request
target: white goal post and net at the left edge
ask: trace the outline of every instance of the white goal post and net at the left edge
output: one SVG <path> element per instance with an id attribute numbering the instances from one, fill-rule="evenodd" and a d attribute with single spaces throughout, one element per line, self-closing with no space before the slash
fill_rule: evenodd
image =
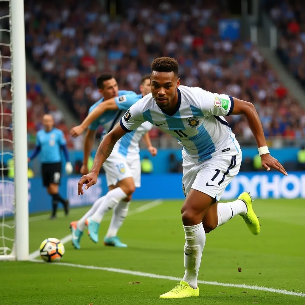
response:
<path id="1" fill-rule="evenodd" d="M 0 0 L 0 12 L 0 260 L 27 260 L 27 114 L 23 0 Z"/>

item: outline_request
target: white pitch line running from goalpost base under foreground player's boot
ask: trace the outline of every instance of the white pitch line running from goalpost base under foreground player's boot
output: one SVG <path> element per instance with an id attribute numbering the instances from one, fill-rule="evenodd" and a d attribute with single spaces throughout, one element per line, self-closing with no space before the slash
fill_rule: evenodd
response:
<path id="1" fill-rule="evenodd" d="M 32 261 L 37 262 L 37 263 L 43 263 L 42 260 L 32 260 Z M 68 267 L 83 268 L 83 269 L 103 270 L 103 271 L 109 271 L 109 272 L 144 276 L 146 278 L 161 278 L 161 279 L 165 279 L 165 280 L 172 280 L 172 281 L 178 281 L 178 282 L 181 281 L 181 278 L 177 278 L 174 276 L 146 273 L 146 272 L 141 272 L 141 271 L 131 271 L 131 270 L 124 270 L 124 269 L 117 269 L 117 268 L 108 268 L 108 267 L 86 266 L 86 265 L 70 264 L 70 263 L 53 263 L 53 264 L 61 265 L 61 266 L 68 266 Z M 303 293 L 303 292 L 295 292 L 295 291 L 289 291 L 289 290 L 285 290 L 285 289 L 274 289 L 274 288 L 268 288 L 268 287 L 262 287 L 262 286 L 256 286 L 256 285 L 251 286 L 251 285 L 246 285 L 246 284 L 231 284 L 231 283 L 209 282 L 209 281 L 200 281 L 200 280 L 198 281 L 198 283 L 204 284 L 204 285 L 252 289 L 252 290 L 260 290 L 260 291 L 266 291 L 266 292 L 275 292 L 275 293 L 286 294 L 286 295 L 291 295 L 291 296 L 305 297 L 305 293 Z"/>

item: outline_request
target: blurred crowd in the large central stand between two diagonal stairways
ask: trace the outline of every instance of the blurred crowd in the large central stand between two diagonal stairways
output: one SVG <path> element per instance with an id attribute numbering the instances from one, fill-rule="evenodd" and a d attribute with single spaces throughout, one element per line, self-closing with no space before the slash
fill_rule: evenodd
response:
<path id="1" fill-rule="evenodd" d="M 143 1 L 118 18 L 89 3 L 25 2 L 27 56 L 78 120 L 101 97 L 95 85 L 100 73 L 111 72 L 120 89 L 138 92 L 151 61 L 172 56 L 180 65 L 181 84 L 253 102 L 267 137 L 304 135 L 304 110 L 257 48 L 249 41 L 220 39 L 218 20 L 228 14 L 217 2 L 152 7 Z M 32 84 L 29 90 L 34 88 Z M 37 109 L 49 105 L 47 97 L 37 100 Z M 39 110 L 32 113 L 40 115 Z M 228 121 L 237 137 L 252 138 L 242 116 Z M 160 137 L 160 131 L 152 129 L 151 136 Z"/>

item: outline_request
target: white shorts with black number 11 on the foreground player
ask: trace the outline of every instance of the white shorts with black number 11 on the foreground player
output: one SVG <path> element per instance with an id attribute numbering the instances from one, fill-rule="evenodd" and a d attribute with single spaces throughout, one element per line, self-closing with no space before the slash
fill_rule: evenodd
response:
<path id="1" fill-rule="evenodd" d="M 238 174 L 242 162 L 241 151 L 236 156 L 214 156 L 208 160 L 192 162 L 183 154 L 182 188 L 187 196 L 191 188 L 219 201 L 225 188 Z"/>

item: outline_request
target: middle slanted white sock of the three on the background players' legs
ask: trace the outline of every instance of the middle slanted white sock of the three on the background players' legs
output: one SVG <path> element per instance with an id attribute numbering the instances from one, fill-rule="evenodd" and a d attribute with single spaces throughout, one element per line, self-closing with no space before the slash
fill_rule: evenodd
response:
<path id="1" fill-rule="evenodd" d="M 106 212 L 113 209 L 121 200 L 125 199 L 127 195 L 123 190 L 119 188 L 114 188 L 105 195 L 105 201 L 101 204 L 95 213 L 91 216 L 93 221 L 100 223 Z"/>

